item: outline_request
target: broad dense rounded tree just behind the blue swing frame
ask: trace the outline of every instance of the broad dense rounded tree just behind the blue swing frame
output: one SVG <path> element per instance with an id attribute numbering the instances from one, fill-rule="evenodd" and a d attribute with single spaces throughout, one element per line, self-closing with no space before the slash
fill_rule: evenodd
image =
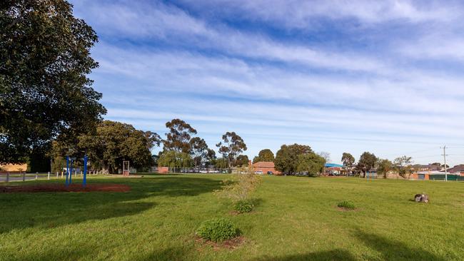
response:
<path id="1" fill-rule="evenodd" d="M 159 145 L 156 133 L 136 130 L 126 123 L 103 121 L 95 134 L 79 136 L 78 152 L 89 155 L 91 162 L 114 173 L 123 160 L 129 160 L 134 168 L 153 165 L 151 148 Z M 75 152 L 76 153 L 76 152 Z"/>

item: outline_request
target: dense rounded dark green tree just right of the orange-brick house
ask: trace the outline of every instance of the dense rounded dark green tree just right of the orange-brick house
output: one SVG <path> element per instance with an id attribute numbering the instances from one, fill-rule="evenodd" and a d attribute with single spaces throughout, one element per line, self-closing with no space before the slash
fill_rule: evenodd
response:
<path id="1" fill-rule="evenodd" d="M 298 170 L 298 156 L 301 154 L 313 153 L 311 147 L 308 145 L 282 145 L 281 149 L 276 153 L 276 160 L 274 160 L 276 170 L 285 174 L 293 174 Z"/>

